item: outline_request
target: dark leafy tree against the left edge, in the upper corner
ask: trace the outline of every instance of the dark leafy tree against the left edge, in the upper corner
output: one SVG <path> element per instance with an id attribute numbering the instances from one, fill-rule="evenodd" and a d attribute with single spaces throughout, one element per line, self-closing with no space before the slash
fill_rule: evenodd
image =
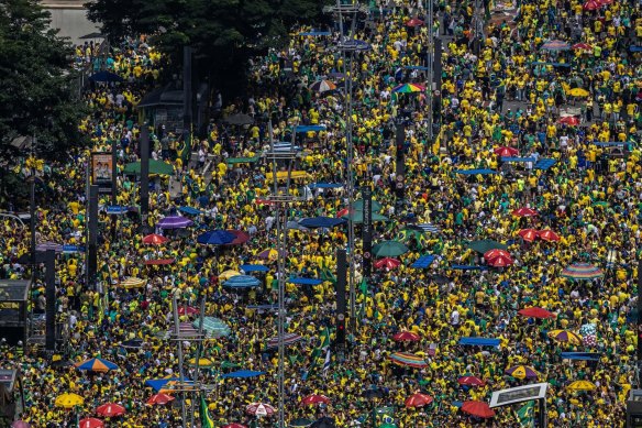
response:
<path id="1" fill-rule="evenodd" d="M 37 0 L 0 2 L 0 161 L 23 155 L 12 144 L 35 136 L 33 151 L 45 160 L 66 158 L 87 139 L 85 116 L 75 99 L 71 46 L 49 29 Z"/>

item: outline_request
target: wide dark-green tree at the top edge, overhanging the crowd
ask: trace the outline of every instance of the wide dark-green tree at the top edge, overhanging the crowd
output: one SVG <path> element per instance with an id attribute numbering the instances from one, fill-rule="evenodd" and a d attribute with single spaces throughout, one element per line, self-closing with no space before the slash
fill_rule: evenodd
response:
<path id="1" fill-rule="evenodd" d="M 320 25 L 319 0 L 96 0 L 88 17 L 118 43 L 124 36 L 152 36 L 153 44 L 180 70 L 182 47 L 193 48 L 201 76 L 219 81 L 243 76 L 246 61 L 281 46 L 297 23 Z M 171 73 L 169 73 L 170 75 Z M 229 85 L 228 85 L 229 86 Z"/>

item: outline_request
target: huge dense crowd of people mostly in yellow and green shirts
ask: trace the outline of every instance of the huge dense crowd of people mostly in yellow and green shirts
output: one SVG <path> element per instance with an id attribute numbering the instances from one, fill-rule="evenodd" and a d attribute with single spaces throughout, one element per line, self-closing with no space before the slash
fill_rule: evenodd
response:
<path id="1" fill-rule="evenodd" d="M 424 2 L 374 1 L 356 25 L 356 39 L 367 50 L 354 54 L 352 72 L 335 48 L 337 31 L 317 35 L 296 29 L 283 51 L 252 62 L 246 97 L 224 100 L 217 95 L 221 111 L 207 135 L 195 140 L 193 160 L 180 156 L 180 135 L 153 123 L 151 157 L 173 165 L 174 174 L 171 179 L 153 175 L 146 226 L 167 242 L 144 243 L 136 211 L 112 220 L 107 213 L 111 200 L 101 197 L 96 285 L 86 278 L 84 253 L 58 255 L 56 310 L 69 326 L 60 359 L 52 362 L 29 348 L 0 355 L 0 366 L 20 369 L 24 380 L 26 407 L 20 418 L 32 427 L 70 427 L 97 417 L 99 405 L 118 403 L 125 414 L 106 419 L 106 426 L 188 426 L 181 419 L 181 393 L 168 387 L 175 402 L 146 404 L 157 393 L 146 381 L 179 373 L 178 345 L 168 334 L 176 297 L 182 308 L 195 308 L 181 311 L 182 323 L 198 321 L 204 299 L 204 315 L 229 327 L 202 347 L 181 343 L 186 362 L 208 360 L 198 369 L 198 380 L 210 385 L 204 399 L 215 426 L 277 426 L 275 415 L 246 411 L 251 403 L 278 405 L 278 355 L 268 345 L 277 336 L 277 216 L 268 198 L 273 165 L 259 156 L 272 136 L 299 147 L 291 184 L 299 198 L 281 211 L 281 220 L 285 215 L 292 224 L 347 213 L 356 237 L 348 249 L 356 319 L 354 328 L 353 320 L 347 322 L 341 352 L 334 343 L 334 285 L 336 250 L 348 245 L 348 226 L 287 228 L 287 252 L 280 254 L 284 278 L 321 283 L 284 282 L 285 329 L 298 339 L 285 352 L 286 420 L 329 417 L 339 427 L 520 427 L 532 417 L 521 411 L 523 404 L 497 408 L 486 418 L 462 403 L 488 403 L 494 391 L 549 383 L 549 425 L 623 426 L 628 393 L 639 384 L 641 4 L 484 3 L 435 3 L 435 24 L 428 29 Z M 424 67 L 430 32 L 442 41 L 443 53 L 441 84 L 429 96 Z M 92 64 L 123 81 L 93 84 L 86 91 L 92 114 L 81 129 L 95 152 L 109 152 L 118 142 L 122 172 L 140 160 L 136 105 L 154 88 L 160 56 L 143 37 L 112 46 L 107 57 L 98 52 L 97 46 L 79 47 L 77 66 Z M 353 114 L 346 121 L 347 76 Z M 332 85 L 316 90 L 318 80 Z M 419 90 L 400 90 L 405 84 L 417 84 Z M 240 114 L 252 123 L 225 121 Z M 320 128 L 297 132 L 301 125 Z M 403 143 L 397 144 L 400 125 Z M 354 153 L 346 145 L 348 128 Z M 26 160 L 21 166 L 25 175 L 34 163 L 47 177 L 47 195 L 55 195 L 37 201 L 38 242 L 84 245 L 89 154 L 51 165 Z M 406 245 L 395 256 L 398 265 L 389 261 L 373 267 L 370 277 L 364 277 L 359 211 L 347 206 L 346 187 L 309 186 L 344 185 L 348 167 L 355 199 L 364 187 L 373 189 L 374 243 Z M 135 178 L 119 174 L 119 206 L 140 205 Z M 278 187 L 284 186 L 279 180 Z M 182 213 L 190 226 L 157 227 L 163 218 L 179 216 L 181 207 L 192 208 Z M 554 238 L 544 240 L 525 229 L 549 230 Z M 211 230 L 243 231 L 248 239 L 235 245 L 197 242 Z M 29 276 L 20 260 L 29 253 L 29 232 L 7 220 L 1 238 L 0 276 Z M 495 266 L 495 259 L 475 245 L 483 240 L 490 245 L 484 250 L 506 249 L 508 262 Z M 428 267 L 412 266 L 429 254 L 434 260 Z M 375 263 L 380 261 L 373 255 Z M 170 263 L 145 264 L 151 260 Z M 578 263 L 590 265 L 590 279 L 562 275 Z M 225 286 L 228 271 L 243 273 L 241 266 L 247 264 L 266 267 L 246 273 L 261 285 Z M 125 287 L 128 278 L 142 281 Z M 36 312 L 44 309 L 43 294 L 38 278 L 32 296 Z M 552 315 L 518 314 L 528 308 Z M 552 333 L 556 330 L 564 334 Z M 395 339 L 405 331 L 416 334 L 411 341 Z M 499 339 L 499 344 L 460 342 L 467 337 Z M 128 344 L 136 339 L 135 347 Z M 414 354 L 420 366 L 394 359 L 395 352 Z M 591 358 L 567 360 L 562 352 Z M 95 373 L 74 365 L 91 358 L 118 367 Z M 519 365 L 534 374 L 522 378 L 509 370 Z M 184 369 L 187 378 L 195 378 L 193 365 Z M 263 374 L 223 376 L 235 370 Z M 483 382 L 462 385 L 464 376 Z M 569 387 L 576 381 L 591 386 Z M 55 398 L 63 393 L 78 394 L 84 402 L 59 407 Z M 430 396 L 431 403 L 406 406 L 416 393 Z M 301 405 L 310 395 L 323 395 L 329 404 Z M 187 399 L 188 408 L 196 404 L 198 410 L 200 398 Z"/>

